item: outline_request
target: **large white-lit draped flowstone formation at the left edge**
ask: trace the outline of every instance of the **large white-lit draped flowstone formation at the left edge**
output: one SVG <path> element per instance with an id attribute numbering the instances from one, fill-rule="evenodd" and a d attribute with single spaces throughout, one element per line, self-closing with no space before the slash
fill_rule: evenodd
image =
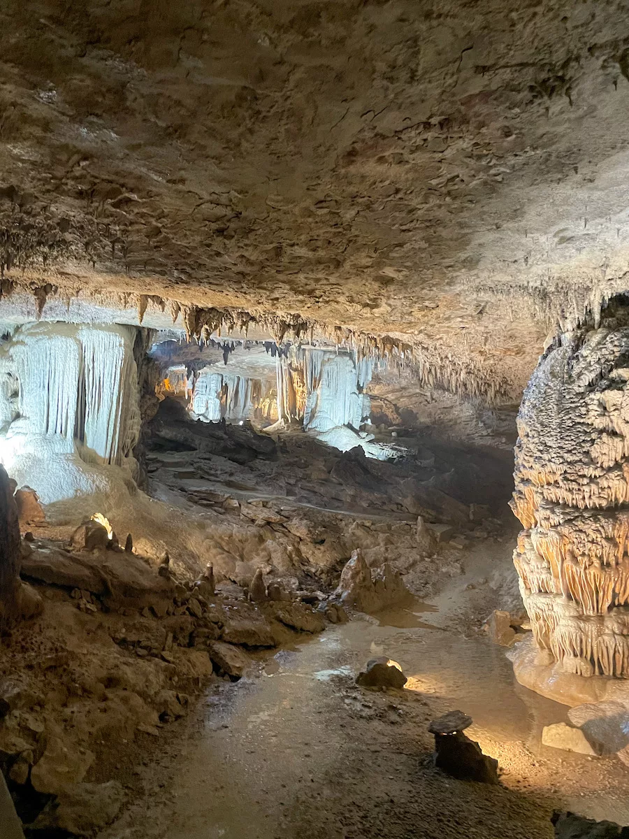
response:
<path id="1" fill-rule="evenodd" d="M 0 459 L 42 502 L 105 489 L 109 466 L 133 473 L 136 333 L 36 323 L 19 327 L 0 351 Z"/>

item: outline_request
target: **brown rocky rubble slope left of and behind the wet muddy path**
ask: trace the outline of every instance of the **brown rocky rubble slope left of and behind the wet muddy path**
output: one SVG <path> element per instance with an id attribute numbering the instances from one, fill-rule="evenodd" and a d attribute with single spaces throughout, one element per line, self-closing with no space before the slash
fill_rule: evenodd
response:
<path id="1" fill-rule="evenodd" d="M 0 654 L 0 761 L 29 836 L 112 821 L 142 797 L 142 765 L 170 727 L 178 748 L 175 722 L 198 696 L 222 696 L 346 610 L 411 605 L 461 581 L 470 607 L 453 621 L 473 634 L 506 602 L 502 572 L 485 585 L 462 562 L 508 539 L 496 507 L 467 501 L 473 456 L 421 446 L 387 463 L 304 435 L 157 421 L 146 462 L 158 500 L 118 505 L 120 545 L 107 521 L 77 528 L 71 507 L 42 511 L 18 493 L 39 614 Z"/>

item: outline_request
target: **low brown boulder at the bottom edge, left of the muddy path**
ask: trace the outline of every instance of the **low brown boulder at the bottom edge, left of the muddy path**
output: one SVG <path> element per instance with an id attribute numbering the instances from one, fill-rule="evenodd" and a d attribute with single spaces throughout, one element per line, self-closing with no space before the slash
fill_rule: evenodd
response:
<path id="1" fill-rule="evenodd" d="M 119 781 L 77 784 L 44 807 L 32 825 L 34 831 L 67 831 L 72 836 L 92 836 L 111 824 L 122 809 L 124 790 Z M 65 834 L 64 834 L 65 835 Z"/>

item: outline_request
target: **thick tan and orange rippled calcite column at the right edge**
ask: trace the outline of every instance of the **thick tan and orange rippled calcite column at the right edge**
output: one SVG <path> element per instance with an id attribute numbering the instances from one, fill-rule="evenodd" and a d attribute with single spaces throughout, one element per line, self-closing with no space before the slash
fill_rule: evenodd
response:
<path id="1" fill-rule="evenodd" d="M 629 317 L 604 313 L 541 358 L 518 415 L 514 553 L 538 648 L 629 677 Z"/>

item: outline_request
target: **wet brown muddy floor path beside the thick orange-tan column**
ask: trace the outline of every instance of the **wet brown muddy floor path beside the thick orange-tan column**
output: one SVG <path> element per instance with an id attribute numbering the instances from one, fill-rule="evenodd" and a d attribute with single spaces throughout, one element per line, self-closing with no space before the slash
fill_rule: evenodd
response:
<path id="1" fill-rule="evenodd" d="M 153 757 L 118 765 L 133 803 L 99 839 L 531 839 L 553 836 L 555 808 L 629 823 L 629 771 L 543 747 L 543 725 L 566 708 L 517 685 L 504 649 L 470 629 L 481 594 L 469 585 L 496 565 L 507 573 L 510 546 L 462 559 L 430 602 L 331 627 L 211 685 Z M 407 689 L 354 685 L 373 654 L 403 665 Z M 474 718 L 501 786 L 433 768 L 428 722 L 454 707 Z"/>

